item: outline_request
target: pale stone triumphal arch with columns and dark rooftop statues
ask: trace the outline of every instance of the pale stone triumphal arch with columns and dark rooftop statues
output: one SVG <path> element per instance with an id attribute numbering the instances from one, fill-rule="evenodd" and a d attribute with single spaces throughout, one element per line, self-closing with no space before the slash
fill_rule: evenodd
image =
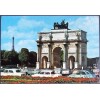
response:
<path id="1" fill-rule="evenodd" d="M 86 32 L 69 29 L 64 20 L 54 23 L 50 32 L 40 32 L 37 46 L 37 69 L 87 66 Z"/>

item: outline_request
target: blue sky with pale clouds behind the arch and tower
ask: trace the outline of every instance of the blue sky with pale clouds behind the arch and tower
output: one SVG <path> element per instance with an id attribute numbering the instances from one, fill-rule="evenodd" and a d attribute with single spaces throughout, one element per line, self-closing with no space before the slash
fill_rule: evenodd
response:
<path id="1" fill-rule="evenodd" d="M 50 31 L 54 22 L 65 19 L 69 28 L 87 32 L 87 57 L 99 56 L 99 17 L 98 16 L 2 16 L 1 49 L 12 49 L 12 37 L 15 37 L 15 50 L 28 48 L 37 52 L 38 32 Z"/>

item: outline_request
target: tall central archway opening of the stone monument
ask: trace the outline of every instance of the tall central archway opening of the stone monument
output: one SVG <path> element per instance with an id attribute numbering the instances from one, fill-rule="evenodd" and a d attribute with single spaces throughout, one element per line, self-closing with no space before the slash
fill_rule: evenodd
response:
<path id="1" fill-rule="evenodd" d="M 53 66 L 56 68 L 61 68 L 62 66 L 62 48 L 56 47 L 53 50 Z"/>

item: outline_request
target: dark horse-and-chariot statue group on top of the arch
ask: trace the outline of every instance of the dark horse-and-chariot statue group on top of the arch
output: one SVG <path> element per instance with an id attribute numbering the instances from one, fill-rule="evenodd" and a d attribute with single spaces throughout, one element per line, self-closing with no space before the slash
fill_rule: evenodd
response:
<path id="1" fill-rule="evenodd" d="M 68 22 L 65 23 L 65 20 L 62 20 L 61 24 L 59 24 L 58 22 L 54 22 L 54 29 L 68 29 Z"/>

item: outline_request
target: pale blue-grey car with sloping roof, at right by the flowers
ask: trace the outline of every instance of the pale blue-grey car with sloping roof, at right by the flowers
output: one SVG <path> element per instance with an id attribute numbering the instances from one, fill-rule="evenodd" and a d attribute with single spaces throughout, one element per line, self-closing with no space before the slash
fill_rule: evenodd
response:
<path id="1" fill-rule="evenodd" d="M 75 77 L 75 78 L 95 78 L 95 76 L 87 70 L 78 70 L 70 74 L 68 77 Z"/>

